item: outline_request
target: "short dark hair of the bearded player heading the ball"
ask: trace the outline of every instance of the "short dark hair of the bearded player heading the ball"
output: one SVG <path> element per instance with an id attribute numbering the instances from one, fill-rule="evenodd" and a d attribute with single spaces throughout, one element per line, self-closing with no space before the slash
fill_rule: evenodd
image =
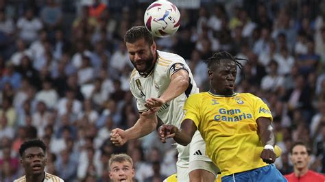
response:
<path id="1" fill-rule="evenodd" d="M 124 42 L 134 43 L 141 38 L 144 38 L 149 45 L 154 43 L 154 37 L 145 26 L 135 26 L 126 31 Z"/>

